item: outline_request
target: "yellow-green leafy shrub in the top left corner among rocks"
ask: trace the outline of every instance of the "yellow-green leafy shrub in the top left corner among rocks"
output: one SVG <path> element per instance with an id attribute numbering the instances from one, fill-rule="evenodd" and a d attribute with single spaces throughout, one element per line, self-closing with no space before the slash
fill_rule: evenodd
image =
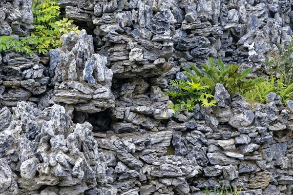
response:
<path id="1" fill-rule="evenodd" d="M 73 24 L 73 20 L 61 19 L 60 7 L 56 0 L 34 0 L 32 13 L 35 19 L 34 29 L 30 36 L 15 38 L 12 36 L 0 37 L 0 52 L 11 50 L 28 55 L 38 52 L 48 53 L 50 49 L 61 47 L 60 37 L 64 33 L 74 31 L 79 33 L 78 26 Z"/>

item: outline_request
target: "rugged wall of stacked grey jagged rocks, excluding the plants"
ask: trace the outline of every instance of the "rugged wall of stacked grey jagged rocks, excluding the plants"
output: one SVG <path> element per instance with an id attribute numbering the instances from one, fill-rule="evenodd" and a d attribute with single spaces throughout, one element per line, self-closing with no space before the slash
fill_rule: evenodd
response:
<path id="1" fill-rule="evenodd" d="M 58 2 L 81 28 L 48 55 L 0 54 L 0 195 L 293 192 L 293 101 L 230 97 L 172 117 L 162 91 L 208 56 L 264 75 L 291 40 L 288 0 Z M 30 0 L 0 0 L 0 36 L 32 28 Z M 248 60 L 243 43 L 255 42 Z"/>

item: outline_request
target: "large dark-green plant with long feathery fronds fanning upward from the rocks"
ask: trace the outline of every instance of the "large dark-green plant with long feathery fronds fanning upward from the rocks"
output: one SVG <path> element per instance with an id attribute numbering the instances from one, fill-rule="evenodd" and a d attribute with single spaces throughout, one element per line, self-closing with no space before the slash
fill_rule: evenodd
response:
<path id="1" fill-rule="evenodd" d="M 246 79 L 245 77 L 251 72 L 251 68 L 245 69 L 242 72 L 237 72 L 239 65 L 230 64 L 225 66 L 221 59 L 216 59 L 217 68 L 212 58 L 208 58 L 208 64 L 203 64 L 203 72 L 198 67 L 191 64 L 191 70 L 185 67 L 186 76 L 189 79 L 200 78 L 201 82 L 210 87 L 214 93 L 216 83 L 221 83 L 229 92 L 230 96 L 240 90 L 243 92 L 250 91 L 257 84 L 264 82 L 265 78 Z"/>

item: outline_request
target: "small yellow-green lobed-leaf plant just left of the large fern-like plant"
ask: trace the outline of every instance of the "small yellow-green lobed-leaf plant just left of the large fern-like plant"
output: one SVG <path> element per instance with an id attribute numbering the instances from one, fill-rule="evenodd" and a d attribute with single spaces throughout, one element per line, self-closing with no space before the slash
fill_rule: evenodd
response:
<path id="1" fill-rule="evenodd" d="M 173 102 L 169 104 L 170 108 L 174 110 L 177 115 L 182 108 L 187 112 L 193 110 L 195 103 L 201 103 L 203 106 L 214 106 L 216 102 L 213 96 L 208 92 L 209 86 L 202 85 L 199 79 L 192 80 L 170 80 L 170 84 L 176 87 L 176 90 L 168 90 L 165 92 L 166 96 L 171 97 Z"/>

